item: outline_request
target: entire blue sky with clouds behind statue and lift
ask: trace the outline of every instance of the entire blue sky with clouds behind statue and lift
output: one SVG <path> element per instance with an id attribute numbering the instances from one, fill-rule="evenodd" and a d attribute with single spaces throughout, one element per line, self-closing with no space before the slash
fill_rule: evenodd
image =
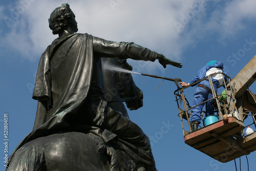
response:
<path id="1" fill-rule="evenodd" d="M 240 1 L 5 1 L 0 4 L 0 127 L 8 113 L 8 155 L 31 132 L 37 102 L 32 99 L 39 58 L 56 35 L 48 28 L 50 13 L 69 3 L 79 33 L 114 41 L 133 41 L 181 62 L 182 69 L 156 62 L 129 60 L 135 72 L 179 77 L 188 82 L 209 60 L 224 63 L 231 78 L 256 54 L 256 2 Z M 144 93 L 144 106 L 128 111 L 150 137 L 158 170 L 235 170 L 234 162 L 220 163 L 184 143 L 174 101 L 175 83 L 134 75 Z M 159 85 L 161 84 L 160 88 Z M 255 83 L 249 88 L 256 94 Z M 187 91 L 191 102 L 195 88 Z M 168 125 L 168 131 L 162 127 Z M 255 130 L 254 127 L 252 129 Z M 3 132 L 2 132 L 3 133 Z M 2 134 L 4 140 L 4 135 Z M 1 158 L 4 145 L 0 145 Z M 248 155 L 255 168 L 255 152 Z M 2 158 L 3 160 L 3 158 Z M 4 170 L 1 161 L 0 168 Z M 239 159 L 237 159 L 239 167 Z M 247 169 L 245 156 L 241 167 Z"/>

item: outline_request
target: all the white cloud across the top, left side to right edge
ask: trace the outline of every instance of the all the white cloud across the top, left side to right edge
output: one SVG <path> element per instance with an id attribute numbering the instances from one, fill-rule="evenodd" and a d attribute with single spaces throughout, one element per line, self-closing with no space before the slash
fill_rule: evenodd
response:
<path id="1" fill-rule="evenodd" d="M 48 18 L 62 1 L 24 1 L 30 2 L 23 6 L 24 11 L 21 8 L 18 11 L 20 3 L 12 7 L 20 14 L 14 19 L 11 31 L 2 37 L 5 46 L 15 48 L 25 58 L 38 59 L 57 37 L 48 27 Z M 110 2 L 116 4 L 111 5 Z M 231 36 L 244 29 L 244 19 L 256 15 L 256 4 L 252 0 L 229 3 L 203 0 L 78 0 L 68 3 L 76 14 L 78 32 L 114 41 L 134 41 L 176 61 L 181 61 L 182 53 L 188 47 L 196 46 L 200 36 L 205 38 L 209 32 L 217 32 L 220 37 Z M 222 8 L 217 8 L 220 3 L 223 3 Z M 175 23 L 182 25 L 177 28 Z"/>

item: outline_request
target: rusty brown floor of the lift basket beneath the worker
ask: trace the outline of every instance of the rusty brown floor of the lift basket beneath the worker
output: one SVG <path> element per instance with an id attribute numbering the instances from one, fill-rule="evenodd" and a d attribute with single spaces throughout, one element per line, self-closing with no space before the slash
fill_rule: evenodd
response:
<path id="1" fill-rule="evenodd" d="M 241 137 L 244 124 L 237 118 L 220 120 L 184 136 L 185 143 L 220 161 L 228 162 L 256 150 L 256 132 Z"/>

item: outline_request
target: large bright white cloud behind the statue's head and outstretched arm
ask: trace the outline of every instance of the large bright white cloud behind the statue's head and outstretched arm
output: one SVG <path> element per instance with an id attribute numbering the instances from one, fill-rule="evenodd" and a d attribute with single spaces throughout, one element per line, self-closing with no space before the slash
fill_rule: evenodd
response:
<path id="1" fill-rule="evenodd" d="M 170 58 L 179 59 L 179 35 L 173 25 L 177 10 L 170 3 L 123 1 L 117 6 L 111 6 L 109 2 L 69 2 L 76 14 L 79 32 L 115 41 L 134 41 Z M 27 4 L 26 10 L 19 12 L 19 16 L 14 19 L 11 32 L 5 35 L 7 44 L 13 47 L 15 43 L 16 50 L 26 58 L 33 58 L 44 51 L 56 37 L 51 35 L 48 28 L 48 18 L 61 3 L 48 0 Z M 17 3 L 12 9 L 17 12 L 19 7 Z"/>

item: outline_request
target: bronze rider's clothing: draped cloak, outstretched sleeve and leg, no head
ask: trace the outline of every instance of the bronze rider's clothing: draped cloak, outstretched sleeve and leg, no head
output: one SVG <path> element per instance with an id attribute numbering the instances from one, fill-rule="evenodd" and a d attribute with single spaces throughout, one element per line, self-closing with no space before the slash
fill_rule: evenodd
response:
<path id="1" fill-rule="evenodd" d="M 100 106 L 105 104 L 99 57 L 154 61 L 157 53 L 133 42 L 108 41 L 88 34 L 56 38 L 39 61 L 33 93 L 33 99 L 38 100 L 33 131 L 16 147 L 9 158 L 9 163 L 17 149 L 36 138 L 60 132 L 92 130 L 105 142 L 118 136 L 120 148 L 130 157 L 145 164 L 155 164 L 146 135 L 136 124 L 126 117 L 122 118 L 119 112 L 111 108 L 105 111 L 109 115 L 105 118 L 109 120 L 104 120 L 107 124 L 97 125 L 96 122 L 89 120 L 85 122 L 92 122 L 92 125 L 76 125 L 75 118 L 79 117 L 78 113 L 82 114 L 84 119 L 90 118 L 87 117 L 91 115 L 87 113 L 90 110 L 84 110 L 84 106 L 88 106 L 89 103 L 97 104 L 101 109 L 105 108 Z M 99 95 L 99 99 L 92 93 L 90 95 L 92 90 L 98 92 L 96 94 Z M 134 137 L 129 137 L 130 133 Z"/>

